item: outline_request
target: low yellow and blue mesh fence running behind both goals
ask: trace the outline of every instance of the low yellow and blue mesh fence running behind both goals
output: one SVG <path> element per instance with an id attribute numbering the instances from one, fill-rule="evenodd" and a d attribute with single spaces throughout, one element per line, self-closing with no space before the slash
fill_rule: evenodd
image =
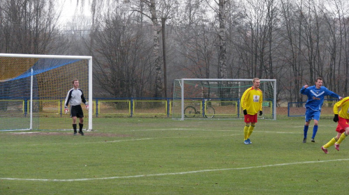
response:
<path id="1" fill-rule="evenodd" d="M 33 100 L 33 113 L 45 117 L 69 117 L 64 114 L 64 100 Z M 30 111 L 31 102 L 24 100 L 0 100 L 0 116 L 15 114 L 16 116 L 27 116 Z M 186 100 L 184 108 L 195 110 L 195 118 L 207 118 L 208 115 L 215 118 L 241 118 L 242 110 L 238 100 Z M 272 101 L 263 102 L 263 114 L 272 114 Z M 181 115 L 181 102 L 172 98 L 150 99 L 150 98 L 96 98 L 93 101 L 92 114 L 94 117 L 169 117 Z M 87 111 L 84 111 L 88 115 Z"/>

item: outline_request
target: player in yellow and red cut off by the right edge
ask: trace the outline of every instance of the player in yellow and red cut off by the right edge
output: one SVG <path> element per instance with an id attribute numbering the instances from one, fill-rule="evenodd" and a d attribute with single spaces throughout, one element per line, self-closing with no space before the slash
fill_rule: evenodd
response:
<path id="1" fill-rule="evenodd" d="M 338 111 L 339 107 L 341 107 L 340 111 Z M 343 139 L 346 139 L 349 134 L 349 97 L 343 98 L 343 100 L 336 102 L 333 107 L 333 112 L 333 121 L 336 123 L 338 122 L 336 127 L 337 135 L 321 147 L 326 154 L 328 153 L 327 148 L 329 148 L 329 146 L 334 145 L 334 148 L 339 150 L 339 143 L 341 143 Z"/>

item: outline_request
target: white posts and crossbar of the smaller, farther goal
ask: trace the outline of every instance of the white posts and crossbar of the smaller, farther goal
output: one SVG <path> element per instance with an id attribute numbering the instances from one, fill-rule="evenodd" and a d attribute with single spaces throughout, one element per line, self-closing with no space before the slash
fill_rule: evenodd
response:
<path id="1" fill-rule="evenodd" d="M 253 79 L 180 79 L 181 80 L 181 120 L 184 120 L 184 81 L 252 81 Z M 276 79 L 260 79 L 260 81 L 272 81 L 273 91 L 273 120 L 276 120 Z"/>

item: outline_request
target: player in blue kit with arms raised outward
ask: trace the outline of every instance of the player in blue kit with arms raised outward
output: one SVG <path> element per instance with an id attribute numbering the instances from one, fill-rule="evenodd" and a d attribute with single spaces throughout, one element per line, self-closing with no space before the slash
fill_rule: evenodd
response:
<path id="1" fill-rule="evenodd" d="M 306 116 L 304 125 L 304 139 L 303 143 L 306 143 L 306 135 L 308 134 L 309 123 L 311 119 L 314 120 L 313 136 L 311 137 L 311 142 L 315 142 L 315 135 L 318 132 L 318 122 L 320 120 L 320 112 L 322 103 L 326 95 L 330 95 L 334 98 L 339 98 L 342 100 L 341 96 L 336 93 L 329 91 L 325 86 L 322 86 L 322 78 L 318 77 L 315 81 L 315 86 L 305 85 L 301 89 L 301 94 L 308 96 L 306 100 Z"/>

